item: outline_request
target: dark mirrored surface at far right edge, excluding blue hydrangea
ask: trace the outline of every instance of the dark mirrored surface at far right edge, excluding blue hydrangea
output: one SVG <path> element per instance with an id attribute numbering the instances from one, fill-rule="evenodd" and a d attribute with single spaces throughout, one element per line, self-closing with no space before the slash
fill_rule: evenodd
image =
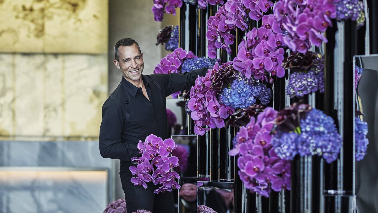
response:
<path id="1" fill-rule="evenodd" d="M 378 67 L 378 57 L 366 63 Z M 370 60 L 369 60 L 370 61 Z M 357 109 L 364 113 L 363 121 L 368 124 L 367 138 L 369 145 L 363 160 L 356 161 L 356 196 L 358 213 L 378 212 L 378 71 L 364 68 L 357 87 Z M 377 119 L 376 119 L 377 118 Z"/>

